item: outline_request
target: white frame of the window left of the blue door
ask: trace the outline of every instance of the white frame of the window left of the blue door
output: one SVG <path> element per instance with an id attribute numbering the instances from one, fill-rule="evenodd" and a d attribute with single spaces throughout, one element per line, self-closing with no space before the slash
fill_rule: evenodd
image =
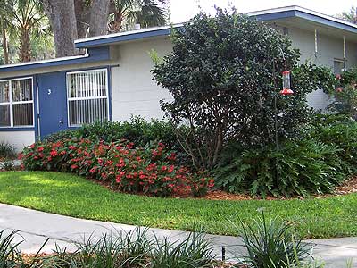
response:
<path id="1" fill-rule="evenodd" d="M 14 102 L 12 101 L 12 81 L 18 80 L 31 80 L 31 91 L 32 91 L 32 100 L 30 101 L 20 101 Z M 11 80 L 0 80 L 0 82 L 9 82 L 9 101 L 6 103 L 0 103 L 0 105 L 10 105 L 10 126 L 0 126 L 0 129 L 21 129 L 21 128 L 34 128 L 35 127 L 35 110 L 34 110 L 34 86 L 33 86 L 33 77 L 21 77 Z M 14 126 L 13 125 L 13 108 L 12 105 L 24 105 L 24 104 L 32 104 L 32 125 L 23 125 L 23 126 Z"/>

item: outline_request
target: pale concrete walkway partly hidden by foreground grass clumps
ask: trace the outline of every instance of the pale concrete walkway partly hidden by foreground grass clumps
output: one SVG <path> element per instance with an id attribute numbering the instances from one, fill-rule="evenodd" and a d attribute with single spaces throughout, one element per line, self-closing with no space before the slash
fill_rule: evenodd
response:
<path id="1" fill-rule="evenodd" d="M 25 253 L 36 253 L 43 245 L 46 238 L 50 240 L 44 247 L 44 252 L 52 252 L 55 244 L 60 247 L 73 249 L 71 241 L 83 241 L 89 236 L 100 237 L 104 233 L 116 232 L 118 230 L 134 230 L 135 226 L 117 224 L 110 222 L 96 222 L 76 219 L 57 214 L 47 214 L 13 205 L 0 204 L 0 230 L 21 230 L 21 237 L 17 241 L 25 239 L 21 243 L 21 251 Z M 188 233 L 179 230 L 150 229 L 156 237 L 162 239 L 169 237 L 173 240 L 184 239 Z M 221 247 L 227 247 L 227 258 L 244 253 L 241 239 L 228 236 L 207 235 L 212 242 L 215 254 L 221 257 Z M 347 239 L 320 239 L 311 240 L 314 256 L 323 260 L 325 267 L 346 267 L 348 259 L 355 258 L 353 267 L 357 267 L 357 238 Z M 238 254 L 237 254 L 238 253 Z"/>

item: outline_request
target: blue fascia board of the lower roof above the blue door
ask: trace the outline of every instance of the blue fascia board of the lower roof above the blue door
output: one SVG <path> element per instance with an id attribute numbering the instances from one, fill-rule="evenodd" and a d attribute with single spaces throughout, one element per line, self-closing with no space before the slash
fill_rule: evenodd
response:
<path id="1" fill-rule="evenodd" d="M 100 62 L 106 61 L 110 59 L 109 53 L 109 46 L 101 46 L 88 49 L 88 54 L 66 59 L 59 58 L 57 61 L 43 61 L 37 63 L 29 63 L 29 64 L 14 64 L 9 66 L 0 66 L 0 73 L 1 72 L 10 72 L 10 71 L 24 71 L 24 70 L 33 70 L 39 68 L 48 68 L 54 66 L 66 66 L 66 65 L 73 65 L 79 63 L 93 63 L 93 62 Z"/>

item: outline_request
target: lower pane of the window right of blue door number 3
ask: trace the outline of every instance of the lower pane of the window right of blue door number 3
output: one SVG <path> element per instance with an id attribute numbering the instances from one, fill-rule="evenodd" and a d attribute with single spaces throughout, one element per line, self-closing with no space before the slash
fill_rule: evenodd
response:
<path id="1" fill-rule="evenodd" d="M 107 99 L 72 100 L 70 106 L 70 125 L 89 124 L 108 120 Z"/>

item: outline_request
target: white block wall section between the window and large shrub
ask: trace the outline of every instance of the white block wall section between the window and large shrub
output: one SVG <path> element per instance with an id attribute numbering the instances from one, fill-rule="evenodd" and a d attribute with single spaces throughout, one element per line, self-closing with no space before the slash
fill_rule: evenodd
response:
<path id="1" fill-rule="evenodd" d="M 160 100 L 170 98 L 169 91 L 158 87 L 151 70 L 154 63 L 149 52 L 154 49 L 160 56 L 169 54 L 170 38 L 121 44 L 113 49 L 118 67 L 112 67 L 112 120 L 126 121 L 131 115 L 146 119 L 162 118 Z"/>

